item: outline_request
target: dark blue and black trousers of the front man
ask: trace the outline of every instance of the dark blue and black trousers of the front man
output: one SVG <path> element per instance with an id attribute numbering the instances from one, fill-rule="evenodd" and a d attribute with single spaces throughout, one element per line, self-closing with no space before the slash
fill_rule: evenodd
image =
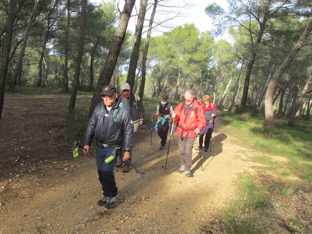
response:
<path id="1" fill-rule="evenodd" d="M 112 155 L 114 148 L 96 147 L 96 166 L 98 169 L 99 181 L 102 185 L 103 195 L 106 197 L 115 197 L 118 188 L 115 182 L 115 174 L 113 168 L 117 162 L 117 157 L 110 163 L 104 160 Z"/>

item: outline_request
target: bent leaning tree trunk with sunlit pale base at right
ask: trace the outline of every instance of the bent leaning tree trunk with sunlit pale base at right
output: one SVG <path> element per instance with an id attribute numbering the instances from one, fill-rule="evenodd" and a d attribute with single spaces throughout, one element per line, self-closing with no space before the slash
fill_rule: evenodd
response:
<path id="1" fill-rule="evenodd" d="M 309 36 L 309 33 L 312 30 L 312 21 L 305 28 L 305 31 L 302 33 L 298 42 L 295 44 L 295 47 L 290 52 L 290 54 L 285 58 L 284 62 L 280 65 L 280 67 L 276 70 L 274 76 L 269 82 L 268 88 L 266 90 L 266 98 L 265 98 L 265 116 L 266 116 L 266 126 L 274 127 L 274 114 L 273 114 L 273 90 L 276 85 L 276 82 L 281 77 L 285 69 L 289 66 L 290 62 L 294 59 L 295 55 L 298 53 L 300 48 L 303 46 L 305 39 Z"/>

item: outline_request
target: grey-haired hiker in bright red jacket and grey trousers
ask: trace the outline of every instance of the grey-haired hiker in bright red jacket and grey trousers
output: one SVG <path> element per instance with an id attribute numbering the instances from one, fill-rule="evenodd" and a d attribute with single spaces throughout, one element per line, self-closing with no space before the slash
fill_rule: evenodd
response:
<path id="1" fill-rule="evenodd" d="M 181 166 L 177 172 L 185 172 L 185 176 L 191 177 L 192 148 L 196 134 L 206 125 L 203 109 L 194 98 L 193 90 L 184 93 L 184 102 L 181 102 L 174 110 L 172 117 L 179 121 L 177 134 L 179 137 L 179 152 Z"/>

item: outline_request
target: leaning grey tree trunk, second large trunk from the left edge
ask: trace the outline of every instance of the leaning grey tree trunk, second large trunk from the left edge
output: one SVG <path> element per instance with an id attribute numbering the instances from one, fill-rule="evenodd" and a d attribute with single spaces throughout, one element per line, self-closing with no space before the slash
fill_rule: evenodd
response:
<path id="1" fill-rule="evenodd" d="M 16 63 L 14 72 L 13 72 L 12 77 L 11 77 L 10 90 L 12 90 L 13 87 L 16 85 L 18 74 L 19 74 L 20 70 L 22 69 L 23 56 L 25 53 L 25 49 L 26 49 L 28 38 L 29 38 L 30 30 L 32 28 L 32 24 L 33 24 L 35 17 L 36 17 L 35 13 L 37 11 L 38 4 L 39 4 L 39 0 L 35 0 L 35 5 L 32 8 L 32 13 L 30 15 L 28 25 L 27 25 L 27 28 L 26 28 L 25 33 L 24 33 L 22 48 L 21 48 L 21 51 L 18 55 L 17 63 Z"/>

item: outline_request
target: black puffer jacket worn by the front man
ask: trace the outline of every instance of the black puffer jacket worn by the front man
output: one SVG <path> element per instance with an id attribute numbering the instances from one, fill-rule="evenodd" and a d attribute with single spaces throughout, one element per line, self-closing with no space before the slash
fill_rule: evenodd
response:
<path id="1" fill-rule="evenodd" d="M 118 108 L 120 101 L 117 99 L 117 103 L 113 106 L 112 112 L 114 109 Z M 100 115 L 101 108 L 105 108 L 103 102 L 97 104 L 94 108 L 92 116 L 90 117 L 87 130 L 85 131 L 85 140 L 83 141 L 84 145 L 91 145 L 92 138 L 101 142 L 100 131 L 102 131 L 103 126 L 103 115 Z M 106 140 L 101 142 L 107 145 L 122 145 L 124 142 L 124 150 L 131 150 L 133 145 L 133 123 L 131 121 L 130 111 L 127 107 L 121 107 L 117 113 L 116 119 L 118 124 L 122 127 L 123 131 L 116 124 L 113 117 L 110 118 L 108 123 Z"/>

